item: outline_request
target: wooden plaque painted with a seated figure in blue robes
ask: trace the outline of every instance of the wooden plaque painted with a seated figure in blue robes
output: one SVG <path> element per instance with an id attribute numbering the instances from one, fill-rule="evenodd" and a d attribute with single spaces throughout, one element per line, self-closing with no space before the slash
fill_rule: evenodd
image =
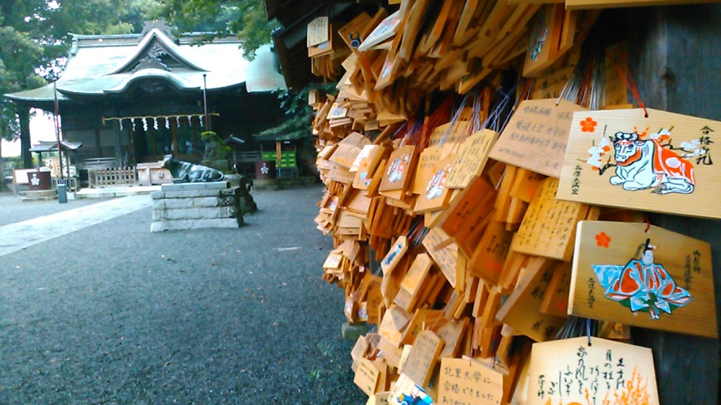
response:
<path id="1" fill-rule="evenodd" d="M 711 247 L 643 223 L 581 221 L 568 313 L 717 337 Z"/>

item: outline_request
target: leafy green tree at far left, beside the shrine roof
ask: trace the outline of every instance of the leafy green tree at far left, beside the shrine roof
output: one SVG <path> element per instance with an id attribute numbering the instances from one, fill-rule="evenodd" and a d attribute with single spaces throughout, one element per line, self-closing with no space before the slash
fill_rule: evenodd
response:
<path id="1" fill-rule="evenodd" d="M 131 19 L 138 19 L 138 15 L 157 3 L 157 0 L 0 1 L 0 95 L 35 89 L 56 79 L 71 46 L 71 33 L 133 32 Z M 0 137 L 9 141 L 20 137 L 15 106 L 4 98 L 0 98 Z M 22 142 L 23 150 L 30 148 L 29 138 L 22 138 Z M 0 157 L 0 167 L 1 164 Z"/>

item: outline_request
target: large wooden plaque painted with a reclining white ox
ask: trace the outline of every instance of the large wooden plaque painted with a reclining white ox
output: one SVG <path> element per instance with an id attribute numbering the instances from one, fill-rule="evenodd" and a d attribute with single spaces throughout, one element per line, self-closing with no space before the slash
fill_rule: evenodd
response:
<path id="1" fill-rule="evenodd" d="M 642 109 L 576 112 L 557 197 L 721 218 L 721 123 Z"/>

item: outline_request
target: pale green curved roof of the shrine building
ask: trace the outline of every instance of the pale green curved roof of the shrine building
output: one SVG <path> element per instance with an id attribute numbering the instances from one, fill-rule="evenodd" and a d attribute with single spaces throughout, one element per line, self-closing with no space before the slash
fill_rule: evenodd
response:
<path id="1" fill-rule="evenodd" d="M 225 89 L 246 84 L 248 92 L 271 92 L 286 87 L 270 45 L 256 52 L 254 61 L 242 56 L 242 42 L 224 37 L 194 45 L 193 37 L 174 43 L 153 29 L 140 35 L 74 35 L 66 68 L 57 81 L 58 100 L 74 96 L 102 96 L 127 90 L 138 81 L 163 81 L 178 91 Z M 53 101 L 53 86 L 5 94 L 22 102 Z"/>

